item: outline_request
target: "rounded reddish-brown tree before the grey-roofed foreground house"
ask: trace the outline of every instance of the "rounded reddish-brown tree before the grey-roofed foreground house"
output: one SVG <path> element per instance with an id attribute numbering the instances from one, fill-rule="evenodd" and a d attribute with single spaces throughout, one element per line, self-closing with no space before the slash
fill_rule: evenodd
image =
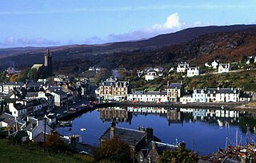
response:
<path id="1" fill-rule="evenodd" d="M 102 160 L 130 162 L 130 146 L 126 142 L 118 139 L 118 137 L 113 137 L 110 140 L 102 142 L 100 156 Z"/>

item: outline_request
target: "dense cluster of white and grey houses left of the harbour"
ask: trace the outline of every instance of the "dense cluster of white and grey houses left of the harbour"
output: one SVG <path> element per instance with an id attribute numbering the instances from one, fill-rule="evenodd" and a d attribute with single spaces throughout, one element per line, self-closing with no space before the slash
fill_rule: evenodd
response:
<path id="1" fill-rule="evenodd" d="M 21 134 L 24 140 L 44 141 L 44 132 L 50 134 L 50 126 L 56 123 L 56 115 L 50 112 L 78 101 L 89 89 L 87 79 L 75 85 L 68 81 L 66 75 L 58 75 L 54 82 L 1 83 L 0 128 L 8 129 L 6 136 Z"/>

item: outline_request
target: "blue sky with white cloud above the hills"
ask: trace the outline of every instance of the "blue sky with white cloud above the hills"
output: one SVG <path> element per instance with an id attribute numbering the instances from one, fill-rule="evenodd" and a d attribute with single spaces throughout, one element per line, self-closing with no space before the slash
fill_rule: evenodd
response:
<path id="1" fill-rule="evenodd" d="M 256 0 L 0 0 L 0 48 L 102 44 L 256 24 Z"/>

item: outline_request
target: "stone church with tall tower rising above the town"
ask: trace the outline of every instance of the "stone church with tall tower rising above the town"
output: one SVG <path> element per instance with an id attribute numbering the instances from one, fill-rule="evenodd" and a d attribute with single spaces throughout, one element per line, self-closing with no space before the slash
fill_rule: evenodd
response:
<path id="1" fill-rule="evenodd" d="M 53 76 L 52 54 L 49 49 L 46 51 L 46 54 L 44 54 L 44 63 L 34 64 L 31 69 L 38 70 L 39 78 L 48 78 Z"/>

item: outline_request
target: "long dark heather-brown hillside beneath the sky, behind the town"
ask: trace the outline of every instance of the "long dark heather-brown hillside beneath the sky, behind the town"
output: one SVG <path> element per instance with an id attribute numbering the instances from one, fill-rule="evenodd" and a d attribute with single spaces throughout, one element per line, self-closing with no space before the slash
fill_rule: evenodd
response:
<path id="1" fill-rule="evenodd" d="M 256 50 L 256 26 L 206 26 L 162 34 L 138 42 L 116 42 L 103 45 L 49 47 L 55 72 L 82 72 L 89 66 L 139 68 L 170 62 L 190 61 L 203 64 L 214 58 L 234 62 Z M 0 69 L 18 69 L 43 62 L 46 48 L 13 48 L 0 50 Z"/>

